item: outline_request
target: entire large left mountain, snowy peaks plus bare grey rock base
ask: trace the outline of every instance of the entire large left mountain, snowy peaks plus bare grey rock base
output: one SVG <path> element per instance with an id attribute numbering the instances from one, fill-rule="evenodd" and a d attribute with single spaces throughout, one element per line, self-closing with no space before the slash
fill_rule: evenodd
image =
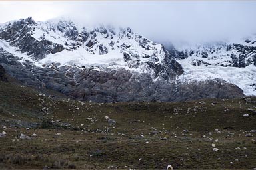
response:
<path id="1" fill-rule="evenodd" d="M 0 27 L 0 64 L 28 86 L 93 102 L 243 96 L 223 80 L 177 81 L 185 70 L 175 57 L 130 28 L 35 22 L 31 17 Z"/>

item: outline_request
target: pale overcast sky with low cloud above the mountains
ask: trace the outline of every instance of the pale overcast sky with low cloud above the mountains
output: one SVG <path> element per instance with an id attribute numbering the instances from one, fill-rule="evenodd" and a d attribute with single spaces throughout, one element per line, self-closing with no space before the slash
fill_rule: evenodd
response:
<path id="1" fill-rule="evenodd" d="M 215 41 L 256 33 L 256 1 L 0 1 L 0 23 L 70 17 L 129 26 L 155 41 Z"/>

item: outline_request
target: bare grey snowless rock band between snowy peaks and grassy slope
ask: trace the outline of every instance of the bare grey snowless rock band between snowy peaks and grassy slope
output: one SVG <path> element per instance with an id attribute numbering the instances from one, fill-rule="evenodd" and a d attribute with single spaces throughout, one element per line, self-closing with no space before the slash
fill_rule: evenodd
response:
<path id="1" fill-rule="evenodd" d="M 49 88 L 79 100 L 92 102 L 177 102 L 243 96 L 241 89 L 222 80 L 184 84 L 167 80 L 154 82 L 149 74 L 134 74 L 125 69 L 99 71 L 89 68 L 81 70 L 71 66 L 24 68 L 18 63 L 3 66 L 11 76 L 24 84 Z"/>

